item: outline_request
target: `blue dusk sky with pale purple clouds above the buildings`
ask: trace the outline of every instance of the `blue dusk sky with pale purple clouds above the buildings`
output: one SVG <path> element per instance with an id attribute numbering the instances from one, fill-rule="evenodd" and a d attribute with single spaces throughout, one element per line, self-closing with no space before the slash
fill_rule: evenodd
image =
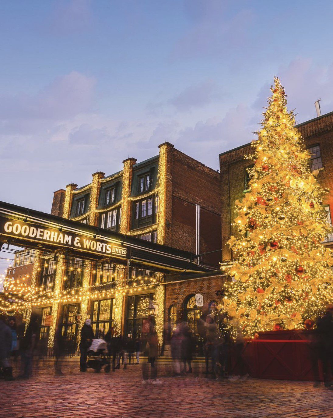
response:
<path id="1" fill-rule="evenodd" d="M 274 75 L 299 122 L 332 111 L 332 20 L 329 1 L 0 2 L 0 199 L 49 212 L 165 140 L 217 169 Z"/>

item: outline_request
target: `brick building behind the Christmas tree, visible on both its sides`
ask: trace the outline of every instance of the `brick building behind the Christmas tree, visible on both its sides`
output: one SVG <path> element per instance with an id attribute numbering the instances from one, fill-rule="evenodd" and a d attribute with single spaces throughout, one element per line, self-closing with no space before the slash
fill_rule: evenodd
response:
<path id="1" fill-rule="evenodd" d="M 311 168 L 319 169 L 318 182 L 331 192 L 326 196 L 325 209 L 328 222 L 331 223 L 333 210 L 333 112 L 296 125 L 305 141 L 305 146 L 312 153 Z M 221 175 L 221 227 L 222 227 L 222 260 L 232 259 L 227 244 L 231 235 L 237 235 L 237 228 L 231 223 L 236 217 L 234 202 L 243 199 L 248 189 L 249 174 L 247 168 L 252 162 L 244 155 L 252 152 L 251 143 L 226 151 L 219 155 Z M 331 239 L 332 238 L 332 239 Z M 330 237 L 325 245 L 330 245 Z"/>

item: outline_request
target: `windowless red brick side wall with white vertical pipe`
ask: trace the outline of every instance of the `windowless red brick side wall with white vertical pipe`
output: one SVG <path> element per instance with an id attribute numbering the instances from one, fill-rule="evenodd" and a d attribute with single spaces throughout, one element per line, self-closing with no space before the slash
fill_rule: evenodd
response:
<path id="1" fill-rule="evenodd" d="M 196 250 L 196 204 L 200 205 L 200 252 L 221 248 L 219 173 L 172 149 L 172 233 L 167 245 Z M 217 266 L 221 254 L 203 257 Z"/>

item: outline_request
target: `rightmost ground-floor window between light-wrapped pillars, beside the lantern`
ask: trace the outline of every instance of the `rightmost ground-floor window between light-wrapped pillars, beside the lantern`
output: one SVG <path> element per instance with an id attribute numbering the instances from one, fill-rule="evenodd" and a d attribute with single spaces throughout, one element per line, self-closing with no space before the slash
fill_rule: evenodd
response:
<path id="1" fill-rule="evenodd" d="M 140 338 L 142 324 L 148 319 L 149 301 L 155 301 L 155 293 L 129 296 L 127 298 L 126 335 L 131 334 L 133 339 Z"/>

